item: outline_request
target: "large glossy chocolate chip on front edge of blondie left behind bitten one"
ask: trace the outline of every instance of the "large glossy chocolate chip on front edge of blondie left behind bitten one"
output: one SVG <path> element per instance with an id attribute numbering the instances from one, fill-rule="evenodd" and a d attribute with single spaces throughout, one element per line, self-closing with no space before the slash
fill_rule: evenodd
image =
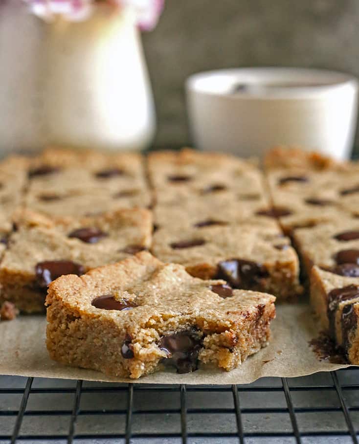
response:
<path id="1" fill-rule="evenodd" d="M 35 275 L 41 288 L 45 288 L 54 279 L 64 274 L 84 274 L 85 269 L 82 265 L 72 261 L 44 261 L 35 265 Z"/>

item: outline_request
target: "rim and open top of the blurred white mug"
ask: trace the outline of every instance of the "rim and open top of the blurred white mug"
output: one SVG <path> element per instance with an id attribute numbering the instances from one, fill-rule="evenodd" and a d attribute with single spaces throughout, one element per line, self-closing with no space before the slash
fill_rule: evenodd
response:
<path id="1" fill-rule="evenodd" d="M 248 81 L 248 79 L 250 79 Z M 253 81 L 254 80 L 254 81 Z M 212 84 L 211 84 L 212 82 Z M 222 82 L 222 84 L 221 84 Z M 270 88 L 260 88 L 263 83 L 271 83 Z M 276 86 L 288 82 L 285 87 Z M 290 86 L 290 83 L 296 83 Z M 297 85 L 303 82 L 303 86 Z M 315 85 L 313 84 L 315 82 Z M 251 84 L 259 88 L 251 91 L 230 92 L 236 83 Z M 223 89 L 225 84 L 227 89 Z M 213 85 L 213 89 L 211 86 Z M 359 81 L 341 71 L 300 67 L 242 67 L 202 71 L 190 75 L 185 81 L 187 93 L 203 96 L 222 97 L 226 100 L 276 100 L 307 99 L 328 95 L 341 89 L 358 90 Z M 217 89 L 215 88 L 217 86 Z M 220 86 L 220 90 L 218 90 Z M 222 90 L 221 90 L 222 89 Z"/>

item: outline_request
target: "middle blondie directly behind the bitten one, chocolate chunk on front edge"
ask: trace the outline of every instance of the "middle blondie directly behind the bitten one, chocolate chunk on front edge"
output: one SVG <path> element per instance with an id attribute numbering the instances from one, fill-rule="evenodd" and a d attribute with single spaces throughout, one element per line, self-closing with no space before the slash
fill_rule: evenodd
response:
<path id="1" fill-rule="evenodd" d="M 152 252 L 202 279 L 220 278 L 233 288 L 287 298 L 301 292 L 298 258 L 277 226 L 256 224 L 159 228 Z"/>

